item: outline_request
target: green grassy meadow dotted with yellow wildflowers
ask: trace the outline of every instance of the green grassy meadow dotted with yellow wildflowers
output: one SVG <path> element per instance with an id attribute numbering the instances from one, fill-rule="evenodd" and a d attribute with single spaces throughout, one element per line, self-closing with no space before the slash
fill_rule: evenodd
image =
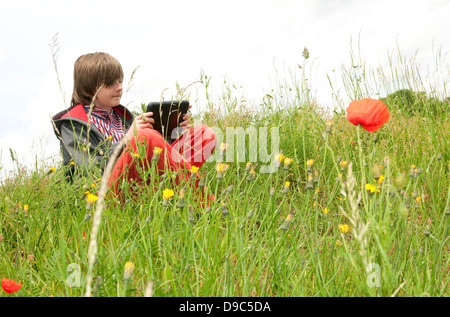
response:
<path id="1" fill-rule="evenodd" d="M 268 150 L 272 173 L 261 172 L 267 163 L 238 161 L 234 140 L 219 140 L 198 172 L 216 197 L 209 207 L 169 172 L 142 170 L 151 185 L 126 184 L 121 204 L 103 198 L 99 173 L 71 184 L 62 166 L 16 161 L 0 188 L 0 277 L 23 285 L 0 296 L 448 296 L 442 78 L 426 86 L 414 60 L 400 55 L 370 71 L 352 53 L 342 77 L 329 77 L 345 87 L 333 92 L 340 107 L 330 111 L 314 100 L 307 53 L 258 109 L 232 84 L 211 91 L 201 74 L 207 102 L 197 120 L 222 131 L 267 128 L 268 140 L 270 128 L 279 132 L 279 151 Z M 442 72 L 445 82 L 448 65 Z M 341 100 L 376 93 L 390 119 L 369 133 L 347 120 Z"/>

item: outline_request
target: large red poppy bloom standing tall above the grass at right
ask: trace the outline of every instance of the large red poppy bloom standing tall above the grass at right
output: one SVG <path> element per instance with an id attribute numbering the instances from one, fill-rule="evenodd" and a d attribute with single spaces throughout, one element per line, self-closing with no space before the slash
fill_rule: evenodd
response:
<path id="1" fill-rule="evenodd" d="M 354 100 L 347 107 L 347 119 L 364 130 L 375 132 L 389 121 L 387 106 L 377 99 Z"/>

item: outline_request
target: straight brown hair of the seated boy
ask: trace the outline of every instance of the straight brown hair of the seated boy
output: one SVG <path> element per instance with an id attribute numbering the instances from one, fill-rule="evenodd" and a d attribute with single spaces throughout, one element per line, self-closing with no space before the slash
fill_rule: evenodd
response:
<path id="1" fill-rule="evenodd" d="M 123 69 L 116 58 L 102 52 L 81 55 L 73 70 L 71 106 L 89 105 L 100 86 L 112 86 L 116 80 L 123 80 Z"/>

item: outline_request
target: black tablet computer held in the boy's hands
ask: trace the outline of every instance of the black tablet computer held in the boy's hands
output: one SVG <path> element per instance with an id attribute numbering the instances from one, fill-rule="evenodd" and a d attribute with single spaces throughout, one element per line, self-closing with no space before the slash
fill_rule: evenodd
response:
<path id="1" fill-rule="evenodd" d="M 172 142 L 178 138 L 178 135 L 172 135 L 172 132 L 180 126 L 188 110 L 189 100 L 156 101 L 147 105 L 147 112 L 153 112 L 153 129 Z"/>

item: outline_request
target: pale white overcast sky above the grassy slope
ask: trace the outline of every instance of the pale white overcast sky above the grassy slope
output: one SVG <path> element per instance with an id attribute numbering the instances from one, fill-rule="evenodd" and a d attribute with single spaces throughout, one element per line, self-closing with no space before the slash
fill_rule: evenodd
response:
<path id="1" fill-rule="evenodd" d="M 125 88 L 139 67 L 122 99 L 134 109 L 166 88 L 166 96 L 174 94 L 177 81 L 183 87 L 199 80 L 202 69 L 219 84 L 227 78 L 242 85 L 247 100 L 259 104 L 273 88 L 275 68 L 284 76 L 307 47 L 318 101 L 330 106 L 326 74 L 349 63 L 351 38 L 360 37 L 368 64 L 386 64 L 398 45 L 432 65 L 433 45 L 449 52 L 449 15 L 450 0 L 2 1 L 0 175 L 13 168 L 10 148 L 31 166 L 58 157 L 49 118 L 69 104 L 73 63 L 82 54 L 118 58 Z M 65 99 L 50 53 L 56 33 Z"/>

